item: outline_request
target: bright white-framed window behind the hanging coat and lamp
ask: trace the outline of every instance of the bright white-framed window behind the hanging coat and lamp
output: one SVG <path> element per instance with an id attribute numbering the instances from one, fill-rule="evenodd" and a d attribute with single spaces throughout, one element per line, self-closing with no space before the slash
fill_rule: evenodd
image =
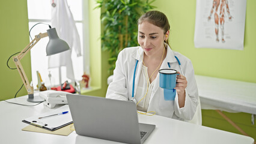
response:
<path id="1" fill-rule="evenodd" d="M 50 25 L 51 19 L 51 7 L 53 1 L 45 1 L 45 0 L 27 0 L 28 2 L 28 19 L 29 19 L 29 29 L 32 28 L 36 23 L 47 23 Z M 70 10 L 72 11 L 73 18 L 76 22 L 76 28 L 78 29 L 78 33 L 81 40 L 81 53 L 82 56 L 77 57 L 75 50 L 72 50 L 72 62 L 73 62 L 73 70 L 75 74 L 76 80 L 82 79 L 82 74 L 84 73 L 84 63 L 89 63 L 84 61 L 84 49 L 89 49 L 88 44 L 85 46 L 84 38 L 87 37 L 88 32 L 85 32 L 85 20 L 84 20 L 84 11 L 87 10 L 84 7 L 84 1 L 82 0 L 67 0 Z M 49 29 L 49 26 L 39 24 L 34 26 L 31 30 L 31 37 L 34 39 L 34 35 L 39 33 L 44 33 Z M 30 39 L 31 40 L 31 39 Z M 64 83 L 67 79 L 66 77 L 66 67 L 59 68 L 50 68 L 48 69 L 48 58 L 46 56 L 46 45 L 49 41 L 49 38 L 42 38 L 34 47 L 31 49 L 31 71 L 32 71 L 32 82 L 34 88 L 37 85 L 37 71 L 41 75 L 41 79 L 45 83 L 46 86 L 56 86 L 59 83 Z M 88 71 L 88 70 L 87 70 Z M 49 73 L 51 75 L 51 79 L 49 79 Z M 60 74 L 59 74 L 60 73 Z M 61 82 L 60 82 L 61 80 Z M 71 80 L 69 80 L 70 82 Z"/>

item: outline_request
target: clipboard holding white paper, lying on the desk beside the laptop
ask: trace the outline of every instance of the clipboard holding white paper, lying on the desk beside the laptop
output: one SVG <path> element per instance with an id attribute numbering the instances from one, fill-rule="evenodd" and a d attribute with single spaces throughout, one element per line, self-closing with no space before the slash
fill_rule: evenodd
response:
<path id="1" fill-rule="evenodd" d="M 50 116 L 47 118 L 38 119 L 43 116 L 55 115 L 56 113 L 66 112 L 63 115 Z M 37 116 L 31 116 L 24 119 L 22 122 L 26 124 L 34 125 L 36 127 L 44 128 L 45 130 L 55 131 L 59 128 L 65 127 L 66 125 L 72 124 L 73 119 L 69 110 L 69 105 L 59 107 L 58 109 L 52 110 L 50 112 L 43 113 Z"/>

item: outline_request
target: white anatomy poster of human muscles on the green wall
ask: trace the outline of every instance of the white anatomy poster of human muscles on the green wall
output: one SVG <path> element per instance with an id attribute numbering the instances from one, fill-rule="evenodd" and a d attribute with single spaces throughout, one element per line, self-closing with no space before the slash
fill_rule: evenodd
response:
<path id="1" fill-rule="evenodd" d="M 243 50 L 246 0 L 197 0 L 195 47 Z"/>

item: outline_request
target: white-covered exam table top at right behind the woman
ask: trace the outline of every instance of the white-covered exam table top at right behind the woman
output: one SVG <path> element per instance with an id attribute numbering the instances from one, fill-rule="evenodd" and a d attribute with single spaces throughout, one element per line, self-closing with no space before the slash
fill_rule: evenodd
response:
<path id="1" fill-rule="evenodd" d="M 256 114 L 256 83 L 195 76 L 201 109 Z"/>

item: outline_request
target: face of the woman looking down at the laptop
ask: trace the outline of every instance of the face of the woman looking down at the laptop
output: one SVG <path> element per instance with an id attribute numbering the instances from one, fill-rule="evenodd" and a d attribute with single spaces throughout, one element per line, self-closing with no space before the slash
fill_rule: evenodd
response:
<path id="1" fill-rule="evenodd" d="M 163 29 L 147 21 L 138 26 L 138 43 L 147 56 L 160 55 L 163 52 Z"/>

